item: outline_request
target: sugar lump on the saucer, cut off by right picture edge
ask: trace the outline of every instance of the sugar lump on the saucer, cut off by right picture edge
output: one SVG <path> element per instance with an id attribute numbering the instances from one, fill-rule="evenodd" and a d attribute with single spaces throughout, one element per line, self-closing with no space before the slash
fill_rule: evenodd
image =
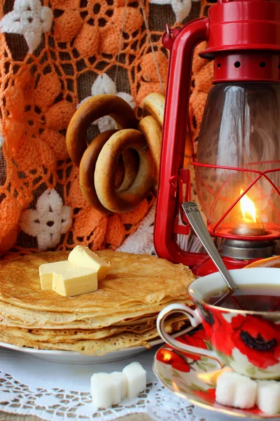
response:
<path id="1" fill-rule="evenodd" d="M 258 380 L 258 407 L 268 415 L 280 413 L 280 382 Z"/>

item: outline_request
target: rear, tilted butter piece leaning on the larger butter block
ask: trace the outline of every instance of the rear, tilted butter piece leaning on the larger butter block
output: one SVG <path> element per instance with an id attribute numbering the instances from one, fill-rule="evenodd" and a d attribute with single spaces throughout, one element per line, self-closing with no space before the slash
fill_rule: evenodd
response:
<path id="1" fill-rule="evenodd" d="M 88 247 L 76 246 L 69 254 L 68 260 L 75 266 L 87 267 L 87 269 L 97 272 L 98 281 L 104 279 L 110 270 L 110 265 Z"/>

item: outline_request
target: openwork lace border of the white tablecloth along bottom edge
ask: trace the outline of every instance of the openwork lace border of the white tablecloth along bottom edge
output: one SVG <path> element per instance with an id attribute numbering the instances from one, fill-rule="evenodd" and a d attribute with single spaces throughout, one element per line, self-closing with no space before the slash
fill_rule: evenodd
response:
<path id="1" fill-rule="evenodd" d="M 36 415 L 43 420 L 109 421 L 132 413 L 148 413 L 157 421 L 204 421 L 196 416 L 188 401 L 169 392 L 159 383 L 151 382 L 137 399 L 98 410 L 92 405 L 90 393 L 64 389 L 31 388 L 0 371 L 0 410 L 20 415 Z M 207 417 L 207 421 L 210 420 Z"/>

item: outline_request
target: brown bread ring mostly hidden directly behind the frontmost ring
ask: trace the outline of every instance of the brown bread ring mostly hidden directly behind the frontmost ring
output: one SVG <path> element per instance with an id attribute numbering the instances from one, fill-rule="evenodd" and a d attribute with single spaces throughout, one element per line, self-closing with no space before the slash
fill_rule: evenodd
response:
<path id="1" fill-rule="evenodd" d="M 102 205 L 95 192 L 94 187 L 94 171 L 99 153 L 104 147 L 105 143 L 111 135 L 116 133 L 116 130 L 107 130 L 100 133 L 91 144 L 85 149 L 83 157 L 80 160 L 79 167 L 79 182 L 80 189 L 85 199 L 92 205 L 92 207 L 102 213 L 110 213 L 110 211 Z M 135 159 L 132 151 L 129 149 L 123 151 L 123 165 L 124 176 L 123 181 L 118 189 L 127 189 L 132 185 L 135 177 L 137 176 L 137 160 Z"/>

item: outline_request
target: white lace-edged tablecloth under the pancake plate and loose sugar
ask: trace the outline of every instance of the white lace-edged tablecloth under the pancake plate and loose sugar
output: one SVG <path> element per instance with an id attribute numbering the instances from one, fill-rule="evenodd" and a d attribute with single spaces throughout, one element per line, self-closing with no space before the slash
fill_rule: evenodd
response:
<path id="1" fill-rule="evenodd" d="M 188 401 L 158 382 L 152 369 L 154 354 L 155 348 L 133 359 L 79 366 L 50 363 L 0 348 L 0 410 L 51 421 L 106 421 L 132 413 L 148 413 L 159 421 L 200 421 L 201 417 L 194 415 Z M 90 396 L 91 375 L 123 370 L 132 361 L 139 361 L 147 370 L 146 391 L 137 399 L 126 399 L 113 408 L 94 408 Z"/>

